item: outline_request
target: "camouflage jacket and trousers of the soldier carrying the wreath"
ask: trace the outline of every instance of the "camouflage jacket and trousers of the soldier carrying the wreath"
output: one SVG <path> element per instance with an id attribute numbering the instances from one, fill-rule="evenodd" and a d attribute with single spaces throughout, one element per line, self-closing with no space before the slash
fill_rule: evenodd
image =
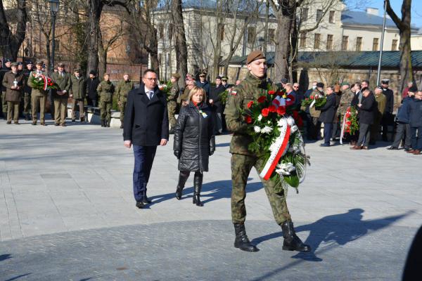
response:
<path id="1" fill-rule="evenodd" d="M 248 74 L 245 80 L 232 89 L 227 97 L 226 115 L 227 129 L 233 131 L 230 143 L 231 152 L 231 218 L 233 223 L 244 223 L 246 218 L 245 197 L 246 183 L 252 166 L 260 173 L 264 166 L 264 159 L 256 157 L 248 150 L 252 138 L 248 135 L 247 124 L 242 115 L 248 110 L 248 103 L 256 101 L 260 96 L 271 89 L 276 91 L 274 84 Z M 261 179 L 265 192 L 271 204 L 276 223 L 290 221 L 290 214 L 286 204 L 286 196 L 280 183 Z"/>

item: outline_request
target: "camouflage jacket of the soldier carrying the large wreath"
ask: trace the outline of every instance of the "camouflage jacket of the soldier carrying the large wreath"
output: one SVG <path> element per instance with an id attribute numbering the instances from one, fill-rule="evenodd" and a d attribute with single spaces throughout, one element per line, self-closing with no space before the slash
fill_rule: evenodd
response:
<path id="1" fill-rule="evenodd" d="M 248 145 L 251 143 L 252 138 L 248 134 L 248 124 L 246 124 L 242 112 L 243 110 L 248 110 L 247 105 L 250 101 L 256 101 L 260 96 L 267 93 L 269 89 L 276 91 L 277 87 L 275 84 L 265 81 L 265 79 L 259 79 L 248 73 L 245 80 L 241 81 L 241 84 L 238 84 L 229 92 L 224 115 L 226 115 L 227 129 L 233 132 L 230 153 L 253 155 L 248 150 Z"/>

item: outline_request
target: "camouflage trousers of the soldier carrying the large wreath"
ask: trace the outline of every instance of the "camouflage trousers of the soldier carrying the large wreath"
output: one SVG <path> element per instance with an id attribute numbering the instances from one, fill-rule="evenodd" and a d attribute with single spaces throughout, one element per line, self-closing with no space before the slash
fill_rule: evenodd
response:
<path id="1" fill-rule="evenodd" d="M 248 155 L 231 155 L 231 219 L 233 223 L 244 223 L 246 218 L 246 183 L 250 170 L 255 169 L 260 173 L 264 166 L 264 159 Z M 290 221 L 290 214 L 287 208 L 286 195 L 280 184 L 261 179 L 265 193 L 271 205 L 276 223 L 281 224 Z"/>

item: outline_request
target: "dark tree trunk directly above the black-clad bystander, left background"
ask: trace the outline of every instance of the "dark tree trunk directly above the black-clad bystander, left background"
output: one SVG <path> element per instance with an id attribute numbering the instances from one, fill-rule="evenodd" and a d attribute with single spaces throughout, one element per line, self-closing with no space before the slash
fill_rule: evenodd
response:
<path id="1" fill-rule="evenodd" d="M 91 70 L 98 71 L 98 32 L 100 28 L 101 12 L 103 4 L 101 0 L 87 0 L 88 6 L 88 58 L 87 76 Z"/>

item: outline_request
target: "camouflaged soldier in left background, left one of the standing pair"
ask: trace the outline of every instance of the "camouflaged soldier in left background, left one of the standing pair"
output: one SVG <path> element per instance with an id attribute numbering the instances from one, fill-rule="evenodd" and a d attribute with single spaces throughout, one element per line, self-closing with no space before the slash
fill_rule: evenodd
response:
<path id="1" fill-rule="evenodd" d="M 104 80 L 98 85 L 98 96 L 100 97 L 101 126 L 109 127 L 111 122 L 111 106 L 113 105 L 113 93 L 115 86 L 110 81 L 110 74 L 104 74 Z"/>

